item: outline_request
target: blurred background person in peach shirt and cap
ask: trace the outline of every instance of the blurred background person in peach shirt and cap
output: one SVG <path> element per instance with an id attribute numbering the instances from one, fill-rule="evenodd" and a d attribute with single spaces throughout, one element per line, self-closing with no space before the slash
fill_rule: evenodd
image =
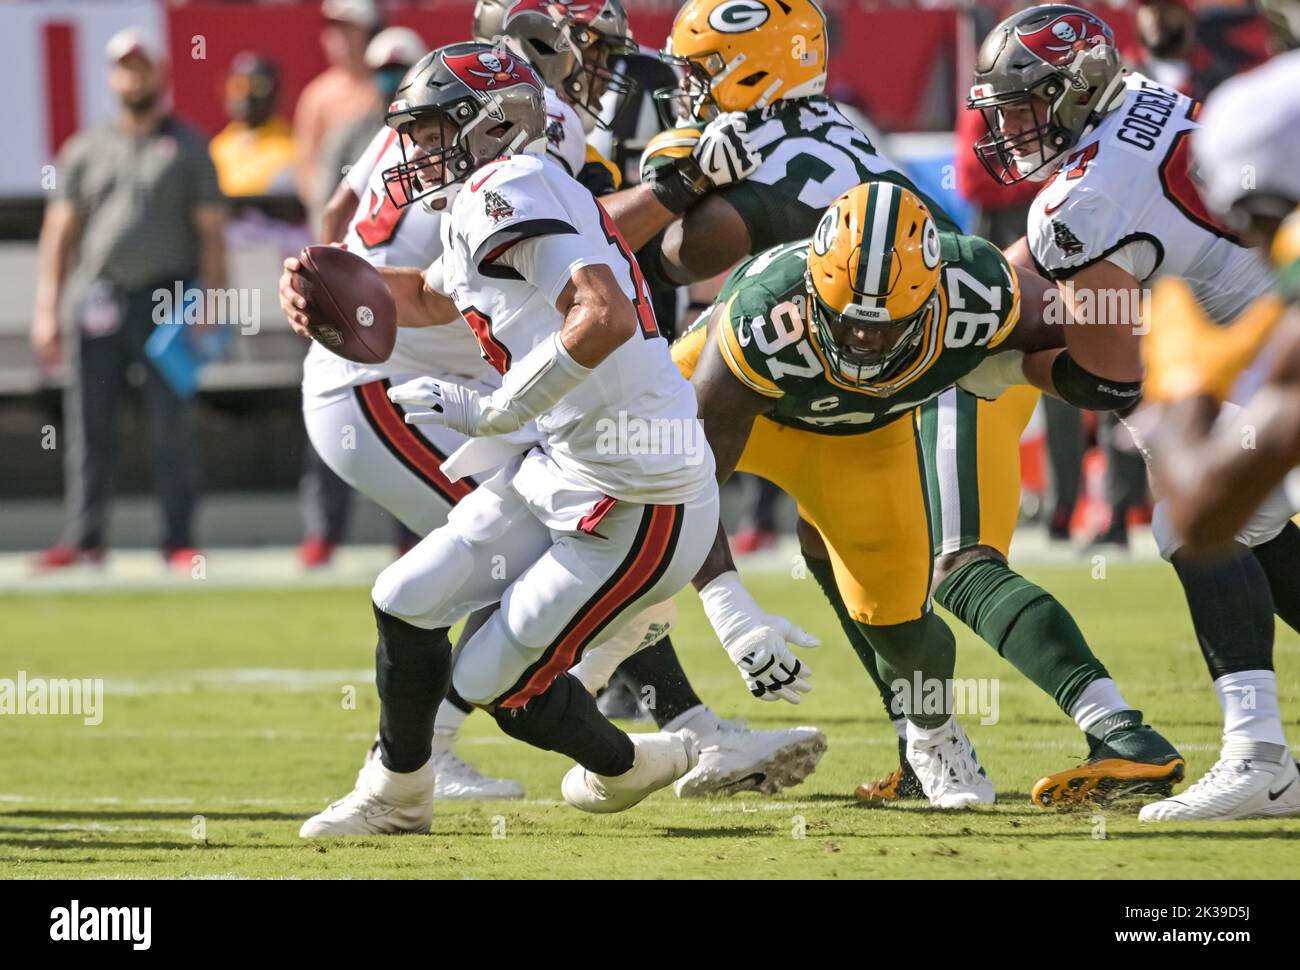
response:
<path id="1" fill-rule="evenodd" d="M 365 66 L 365 47 L 380 25 L 373 0 L 325 0 L 321 47 L 329 65 L 303 88 L 294 109 L 294 177 L 298 198 L 318 212 L 334 183 L 320 185 L 320 151 L 332 131 L 374 111 L 378 95 Z"/>

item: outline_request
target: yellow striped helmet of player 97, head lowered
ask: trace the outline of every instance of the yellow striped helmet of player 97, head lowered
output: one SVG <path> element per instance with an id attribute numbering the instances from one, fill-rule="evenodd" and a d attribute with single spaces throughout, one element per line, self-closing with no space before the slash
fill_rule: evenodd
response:
<path id="1" fill-rule="evenodd" d="M 840 378 L 861 386 L 910 364 L 939 312 L 939 228 L 893 182 L 850 189 L 809 243 L 809 330 Z"/>

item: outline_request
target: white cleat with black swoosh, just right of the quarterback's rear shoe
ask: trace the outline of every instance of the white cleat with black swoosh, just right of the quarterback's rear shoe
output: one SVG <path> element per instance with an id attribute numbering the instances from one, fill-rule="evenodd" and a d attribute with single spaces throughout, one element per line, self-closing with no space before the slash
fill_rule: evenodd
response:
<path id="1" fill-rule="evenodd" d="M 692 732 L 699 763 L 677 780 L 679 798 L 793 788 L 816 768 L 826 754 L 826 735 L 814 727 L 750 731 L 733 722 L 701 733 Z"/>

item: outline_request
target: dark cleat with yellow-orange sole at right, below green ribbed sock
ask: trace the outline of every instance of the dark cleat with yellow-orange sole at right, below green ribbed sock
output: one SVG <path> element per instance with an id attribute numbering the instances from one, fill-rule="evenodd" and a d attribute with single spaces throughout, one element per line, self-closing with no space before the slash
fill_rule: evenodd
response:
<path id="1" fill-rule="evenodd" d="M 1130 794 L 1167 798 L 1183 780 L 1187 763 L 1141 711 L 1117 711 L 1088 728 L 1088 759 L 1069 771 L 1048 775 L 1031 798 L 1043 809 L 1104 802 Z"/>

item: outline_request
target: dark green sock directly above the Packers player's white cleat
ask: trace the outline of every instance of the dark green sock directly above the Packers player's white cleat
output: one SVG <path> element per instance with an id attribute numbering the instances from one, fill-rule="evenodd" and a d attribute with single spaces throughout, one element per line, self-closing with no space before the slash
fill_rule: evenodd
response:
<path id="1" fill-rule="evenodd" d="M 948 624 L 935 612 L 907 623 L 858 629 L 880 658 L 880 677 L 897 685 L 893 710 L 901 707 L 907 720 L 922 728 L 936 728 L 953 714 L 953 667 L 957 641 Z M 897 716 L 892 714 L 890 716 Z"/>

